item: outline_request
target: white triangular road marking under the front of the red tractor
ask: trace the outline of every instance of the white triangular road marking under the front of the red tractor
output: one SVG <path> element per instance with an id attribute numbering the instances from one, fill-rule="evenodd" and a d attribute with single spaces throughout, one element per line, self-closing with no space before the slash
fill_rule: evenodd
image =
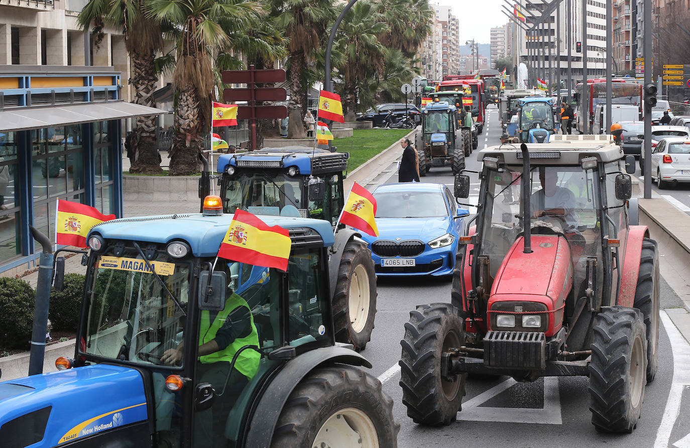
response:
<path id="1" fill-rule="evenodd" d="M 480 393 L 476 397 L 462 403 L 462 411 L 457 413 L 457 420 L 536 423 L 542 425 L 563 424 L 558 377 L 544 378 L 544 407 L 542 409 L 480 407 L 482 403 L 510 389 L 514 384 L 517 384 L 517 381 L 513 380 L 513 378 L 508 378 L 488 391 Z"/>

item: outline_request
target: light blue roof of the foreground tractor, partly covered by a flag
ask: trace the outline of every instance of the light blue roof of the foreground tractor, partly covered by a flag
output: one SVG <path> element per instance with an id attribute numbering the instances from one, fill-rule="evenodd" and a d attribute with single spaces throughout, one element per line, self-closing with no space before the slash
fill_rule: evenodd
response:
<path id="1" fill-rule="evenodd" d="M 295 229 L 300 235 L 306 231 L 321 235 L 324 246 L 333 246 L 333 227 L 324 220 L 312 220 L 302 217 L 259 216 L 268 226 L 281 226 Z M 192 253 L 197 257 L 213 257 L 218 253 L 221 241 L 225 237 L 232 213 L 220 216 L 204 216 L 201 213 L 186 215 L 161 215 L 129 217 L 120 220 L 103 222 L 91 229 L 106 240 L 135 240 L 166 244 L 183 240 L 189 244 Z"/>

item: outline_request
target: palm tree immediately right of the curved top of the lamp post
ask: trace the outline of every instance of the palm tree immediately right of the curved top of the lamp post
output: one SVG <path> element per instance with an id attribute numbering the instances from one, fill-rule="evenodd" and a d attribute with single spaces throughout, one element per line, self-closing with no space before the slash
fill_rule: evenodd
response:
<path id="1" fill-rule="evenodd" d="M 384 68 L 386 47 L 377 36 L 386 32 L 388 26 L 380 16 L 372 3 L 360 1 L 347 12 L 338 30 L 335 47 L 344 56 L 338 72 L 343 81 L 345 121 L 356 119 L 357 90 L 361 90 L 366 79 Z"/>

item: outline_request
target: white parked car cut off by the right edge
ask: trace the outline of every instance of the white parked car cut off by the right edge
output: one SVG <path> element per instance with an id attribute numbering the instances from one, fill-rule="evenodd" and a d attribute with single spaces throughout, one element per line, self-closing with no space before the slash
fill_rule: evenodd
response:
<path id="1" fill-rule="evenodd" d="M 664 137 L 651 154 L 651 178 L 660 190 L 671 183 L 690 182 L 690 139 Z"/>

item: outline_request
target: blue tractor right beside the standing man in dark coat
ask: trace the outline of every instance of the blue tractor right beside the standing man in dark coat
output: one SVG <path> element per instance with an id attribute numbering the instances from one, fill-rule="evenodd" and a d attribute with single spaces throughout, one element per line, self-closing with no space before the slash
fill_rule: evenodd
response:
<path id="1" fill-rule="evenodd" d="M 459 112 L 446 101 L 435 101 L 422 109 L 422 130 L 417 131 L 415 148 L 419 154 L 420 176 L 432 166 L 451 165 L 453 174 L 465 167 L 465 155 L 472 151 L 469 128 L 461 126 Z"/>

